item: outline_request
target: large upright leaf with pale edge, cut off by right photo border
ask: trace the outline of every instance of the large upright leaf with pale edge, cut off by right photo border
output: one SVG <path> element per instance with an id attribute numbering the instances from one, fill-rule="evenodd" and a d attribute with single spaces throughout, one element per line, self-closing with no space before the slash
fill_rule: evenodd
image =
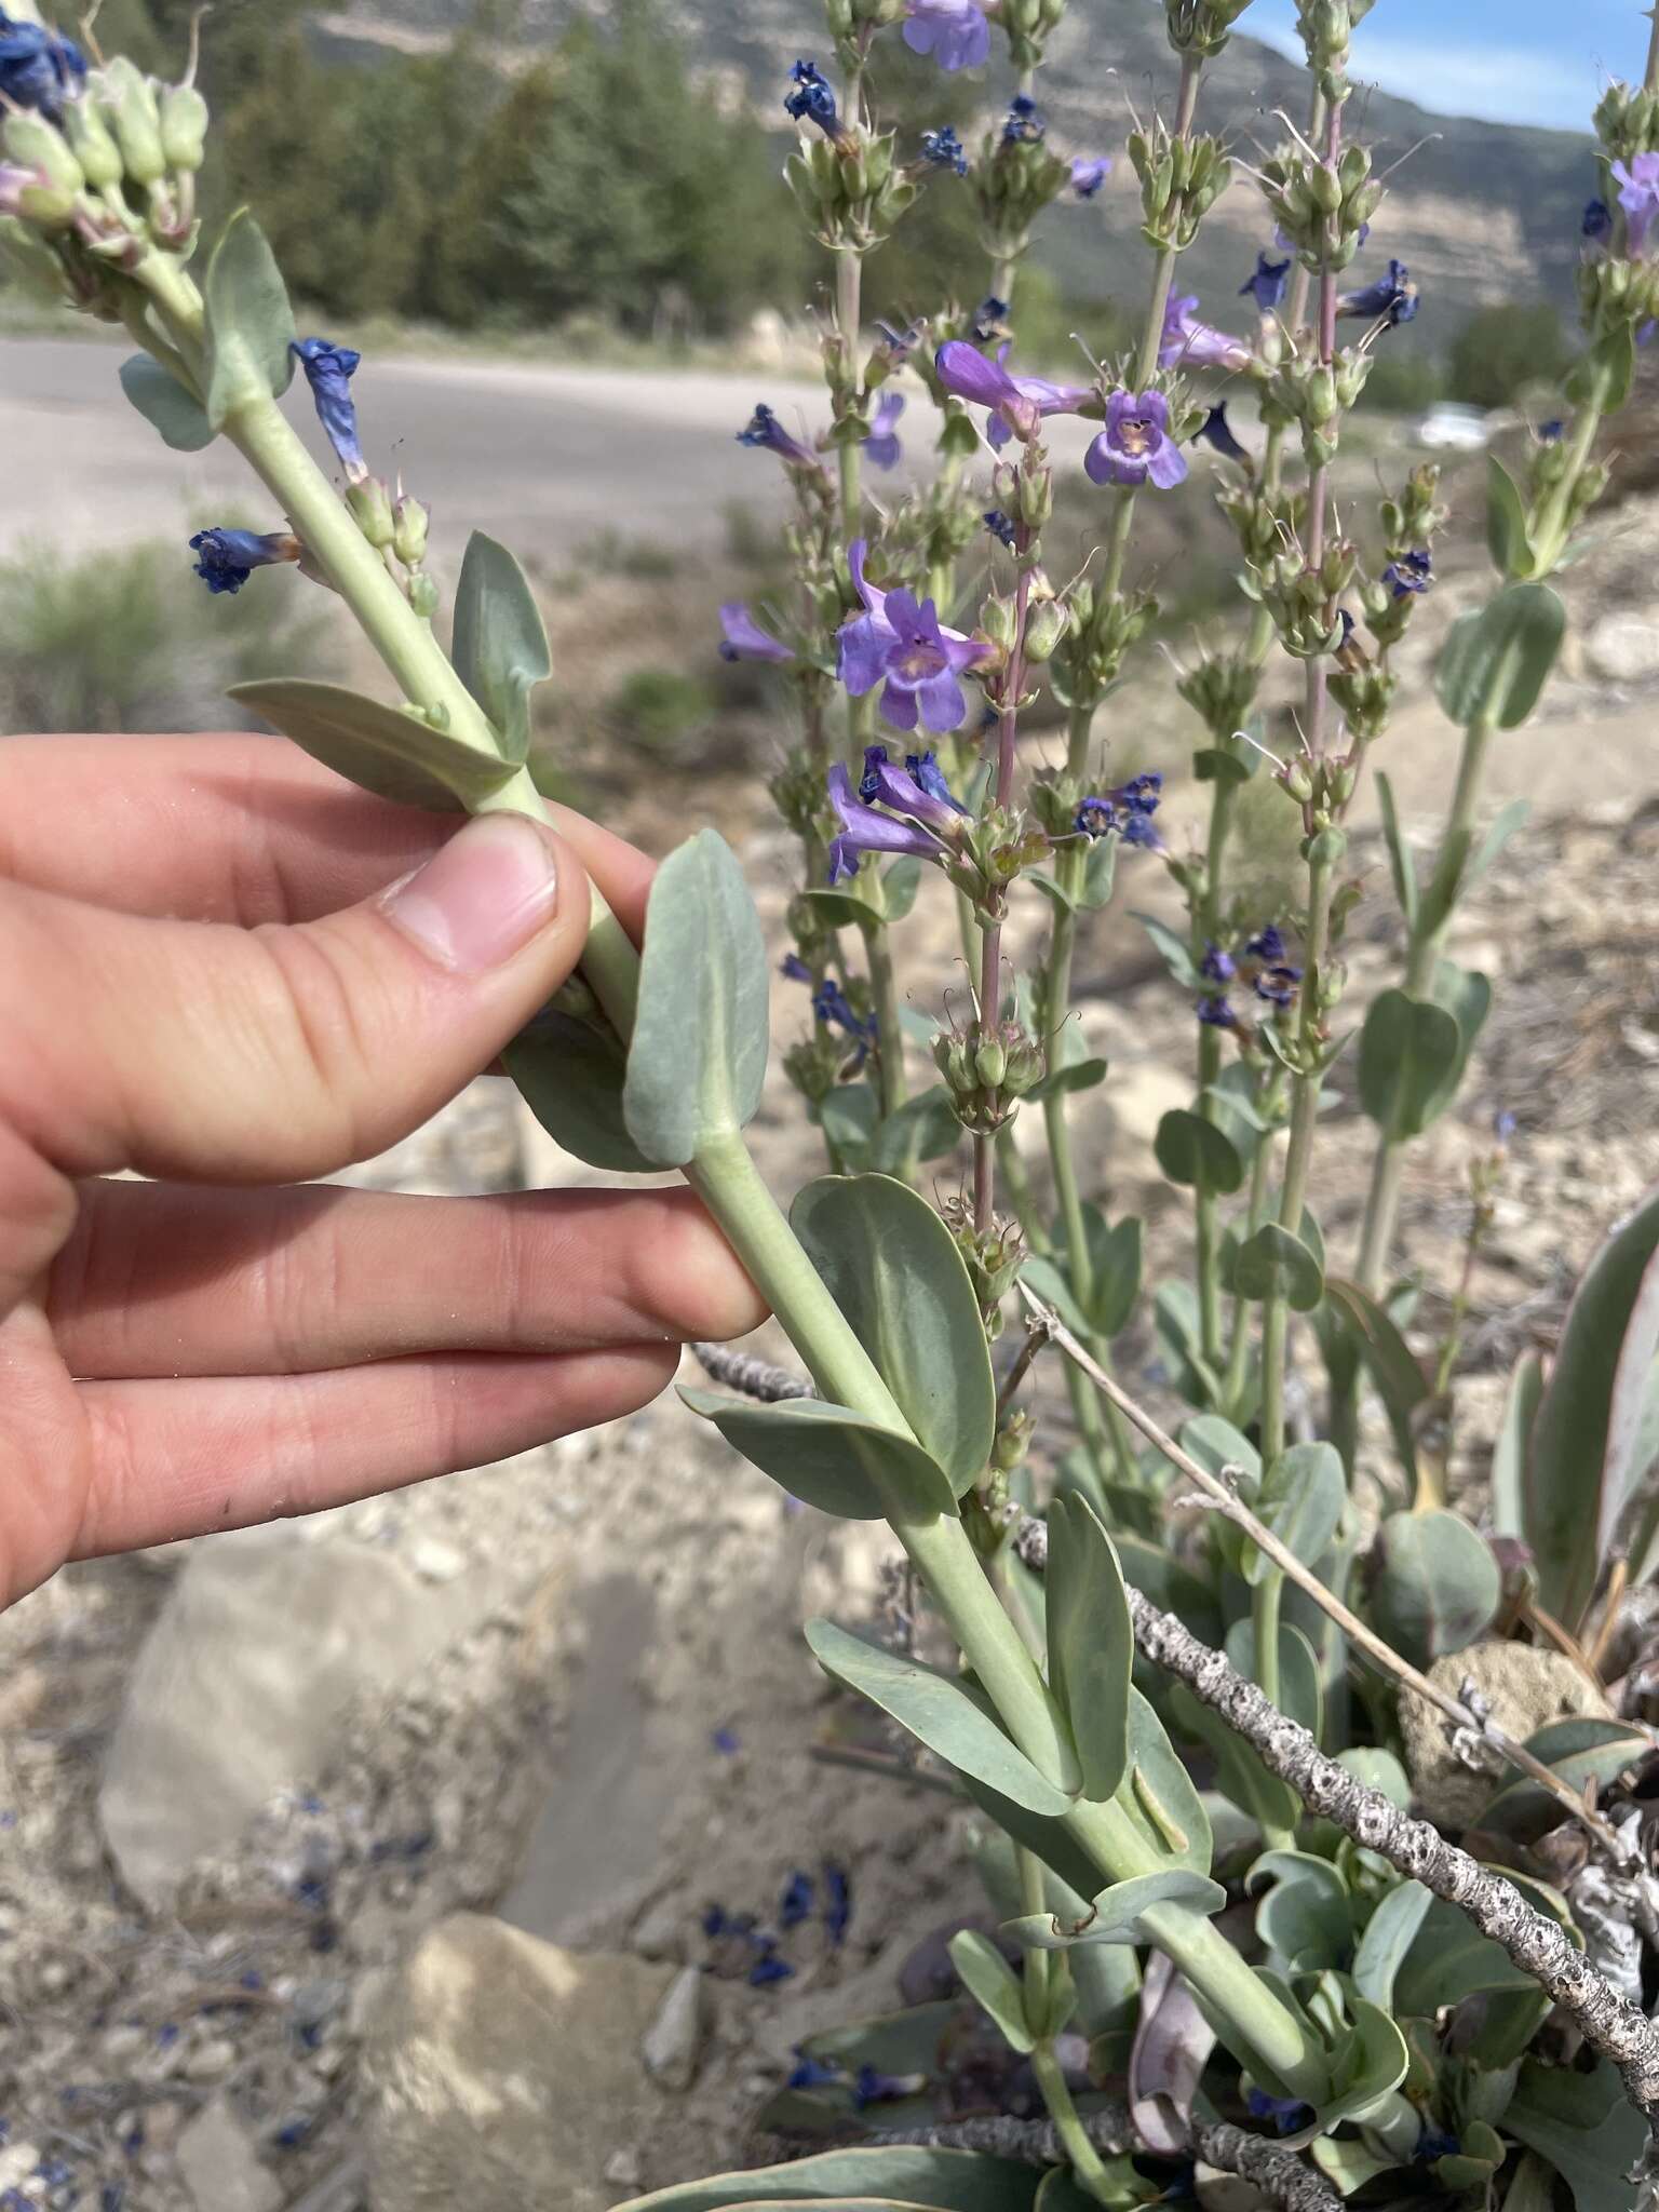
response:
<path id="1" fill-rule="evenodd" d="M 1540 1601 L 1568 1628 L 1621 1531 L 1648 1376 L 1659 1352 L 1659 1190 L 1597 1250 L 1566 1312 L 1533 1420 L 1522 1502 Z"/>

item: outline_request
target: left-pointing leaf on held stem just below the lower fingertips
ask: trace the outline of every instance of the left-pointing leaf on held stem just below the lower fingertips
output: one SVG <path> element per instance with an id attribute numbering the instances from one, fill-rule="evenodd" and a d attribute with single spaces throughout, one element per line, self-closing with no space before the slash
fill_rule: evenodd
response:
<path id="1" fill-rule="evenodd" d="M 679 1396 L 763 1475 L 821 1513 L 841 1520 L 887 1520 L 900 1509 L 956 1513 L 945 1469 L 920 1444 L 845 1405 L 823 1398 L 757 1405 L 706 1389 Z"/>

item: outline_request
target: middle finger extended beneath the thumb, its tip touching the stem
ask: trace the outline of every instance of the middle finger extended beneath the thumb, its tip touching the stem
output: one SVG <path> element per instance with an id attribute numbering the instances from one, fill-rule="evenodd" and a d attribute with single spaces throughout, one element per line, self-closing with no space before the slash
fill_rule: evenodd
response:
<path id="1" fill-rule="evenodd" d="M 71 1374 L 312 1374 L 414 1352 L 741 1336 L 765 1316 L 688 1190 L 88 1181 L 49 1316 Z"/>

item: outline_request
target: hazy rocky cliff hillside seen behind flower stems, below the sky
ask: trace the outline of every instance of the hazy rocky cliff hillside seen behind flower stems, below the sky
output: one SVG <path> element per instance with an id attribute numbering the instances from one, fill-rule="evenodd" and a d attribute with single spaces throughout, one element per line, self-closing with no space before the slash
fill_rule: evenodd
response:
<path id="1" fill-rule="evenodd" d="M 520 42 L 533 49 L 551 38 L 575 4 L 522 0 Z M 608 0 L 584 4 L 604 13 Z M 330 38 L 363 51 L 427 44 L 469 13 L 471 0 L 343 0 L 321 24 Z M 668 0 L 666 13 L 712 69 L 748 80 L 763 111 L 781 108 L 787 64 L 814 51 L 818 31 L 814 0 Z M 1256 148 L 1283 135 L 1276 108 L 1303 113 L 1305 82 L 1281 53 L 1234 35 L 1206 71 L 1201 117 L 1252 159 Z M 1175 58 L 1164 40 L 1164 11 L 1152 0 L 1073 0 L 1044 71 L 1044 106 L 1062 144 L 1121 155 L 1130 108 L 1168 104 L 1172 88 Z M 1378 219 L 1374 254 L 1396 254 L 1411 265 L 1425 294 L 1425 334 L 1444 341 L 1473 307 L 1500 299 L 1546 294 L 1571 307 L 1579 210 L 1595 188 L 1588 137 L 1431 115 L 1389 93 L 1365 93 L 1349 113 L 1376 146 L 1378 173 L 1402 161 Z M 1088 212 L 1091 221 L 1053 223 L 1044 252 L 1066 288 L 1082 296 L 1135 296 L 1141 285 L 1139 199 L 1126 161 Z M 1219 301 L 1228 285 L 1243 281 L 1263 243 L 1259 201 L 1239 184 L 1206 226 L 1186 285 Z M 1360 276 L 1367 268 L 1369 261 Z"/>

